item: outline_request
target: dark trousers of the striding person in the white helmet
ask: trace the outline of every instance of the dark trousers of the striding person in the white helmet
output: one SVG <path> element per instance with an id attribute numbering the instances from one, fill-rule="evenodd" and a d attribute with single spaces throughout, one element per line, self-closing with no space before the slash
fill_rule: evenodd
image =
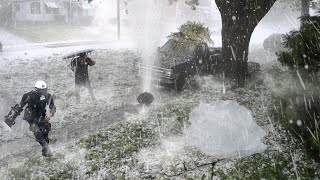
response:
<path id="1" fill-rule="evenodd" d="M 49 144 L 49 132 L 51 131 L 51 124 L 44 118 L 35 118 L 34 121 L 28 121 L 29 129 L 33 132 L 36 141 L 41 146 Z"/>

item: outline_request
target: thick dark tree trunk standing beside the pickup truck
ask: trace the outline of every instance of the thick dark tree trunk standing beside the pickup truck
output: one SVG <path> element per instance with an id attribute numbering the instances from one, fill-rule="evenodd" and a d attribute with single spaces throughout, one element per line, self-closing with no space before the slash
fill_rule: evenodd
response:
<path id="1" fill-rule="evenodd" d="M 215 1 L 222 19 L 222 71 L 244 87 L 252 32 L 276 0 Z"/>

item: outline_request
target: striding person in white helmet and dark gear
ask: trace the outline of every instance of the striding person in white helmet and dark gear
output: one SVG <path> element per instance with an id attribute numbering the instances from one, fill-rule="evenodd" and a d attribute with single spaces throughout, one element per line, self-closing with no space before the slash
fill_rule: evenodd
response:
<path id="1" fill-rule="evenodd" d="M 8 121 L 13 122 L 11 125 L 14 124 L 15 118 L 20 115 L 26 105 L 23 119 L 29 123 L 29 129 L 34 133 L 36 141 L 42 146 L 42 155 L 52 156 L 48 146 L 48 136 L 51 131 L 49 120 L 56 112 L 56 107 L 52 95 L 47 92 L 47 85 L 44 81 L 37 81 L 35 90 L 24 94 L 20 103 L 12 108 L 8 116 Z"/>

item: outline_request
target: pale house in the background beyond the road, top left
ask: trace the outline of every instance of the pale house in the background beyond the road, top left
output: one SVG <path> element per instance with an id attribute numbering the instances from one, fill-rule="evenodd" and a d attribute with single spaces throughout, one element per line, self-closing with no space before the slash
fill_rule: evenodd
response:
<path id="1" fill-rule="evenodd" d="M 11 8 L 15 22 L 87 24 L 94 16 L 87 0 L 13 0 Z"/>

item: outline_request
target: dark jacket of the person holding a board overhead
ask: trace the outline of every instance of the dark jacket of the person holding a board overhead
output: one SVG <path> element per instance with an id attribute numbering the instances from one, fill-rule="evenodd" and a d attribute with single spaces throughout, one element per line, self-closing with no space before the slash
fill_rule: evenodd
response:
<path id="1" fill-rule="evenodd" d="M 90 58 L 85 58 L 84 61 L 81 61 L 81 58 L 75 58 L 71 61 L 71 67 L 74 70 L 75 68 L 75 83 L 77 85 L 85 85 L 89 82 L 88 66 L 93 66 L 95 61 Z"/>

